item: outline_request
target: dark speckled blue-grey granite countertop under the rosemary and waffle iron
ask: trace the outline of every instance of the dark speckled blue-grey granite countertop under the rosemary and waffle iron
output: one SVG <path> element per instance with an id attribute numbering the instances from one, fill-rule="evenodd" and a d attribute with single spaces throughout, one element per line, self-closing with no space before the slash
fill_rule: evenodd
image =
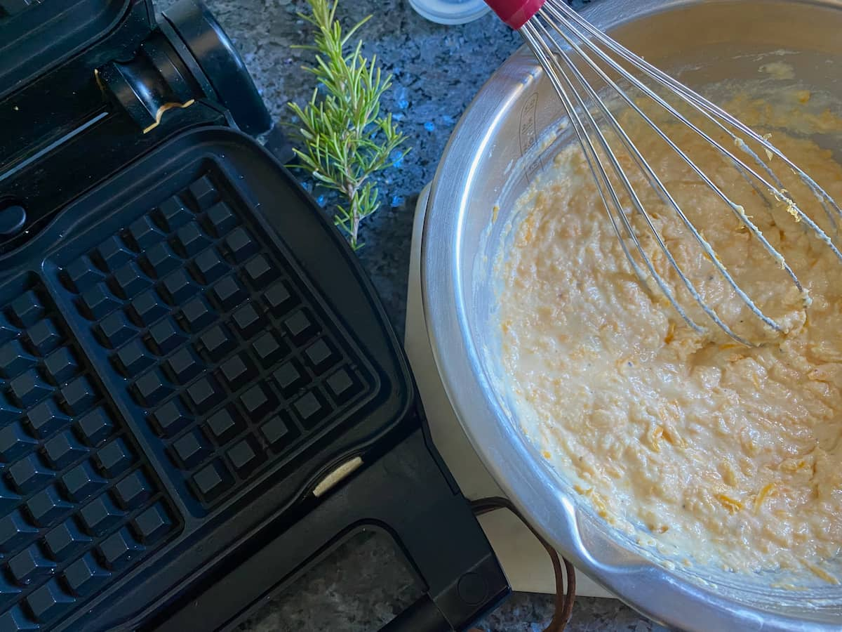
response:
<path id="1" fill-rule="evenodd" d="M 594 0 L 599 2 L 599 0 Z M 296 12 L 302 0 L 206 0 L 232 37 L 276 121 L 290 121 L 286 104 L 302 103 L 312 78 L 301 69 L 311 53 Z M 574 6 L 583 0 L 575 0 Z M 166 7 L 171 0 L 158 3 Z M 360 259 L 402 337 L 413 212 L 418 192 L 432 179 L 450 131 L 482 83 L 518 46 L 520 38 L 488 13 L 472 24 L 441 26 L 418 16 L 408 0 L 339 0 L 338 17 L 350 25 L 376 17 L 360 35 L 394 75 L 384 98 L 400 121 L 412 152 L 381 180 L 383 206 L 361 231 Z M 319 197 L 319 191 L 316 191 Z M 240 626 L 243 632 L 348 632 L 379 629 L 413 603 L 421 588 L 392 543 L 362 534 L 274 597 Z M 552 618 L 549 596 L 516 594 L 479 624 L 488 632 L 539 632 Z M 616 600 L 580 598 L 570 630 L 658 629 Z"/>

